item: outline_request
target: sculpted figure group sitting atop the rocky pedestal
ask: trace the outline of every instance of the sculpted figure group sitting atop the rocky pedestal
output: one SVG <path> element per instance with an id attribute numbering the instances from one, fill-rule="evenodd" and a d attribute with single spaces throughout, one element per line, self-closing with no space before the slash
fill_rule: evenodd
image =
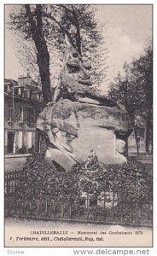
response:
<path id="1" fill-rule="evenodd" d="M 83 61 L 67 38 L 66 42 L 67 49 L 63 55 L 62 69 L 55 88 L 53 100 L 49 102 L 47 106 L 52 106 L 62 97 L 71 101 L 119 108 L 117 102 L 93 90 L 89 73 L 91 63 L 89 61 Z"/>

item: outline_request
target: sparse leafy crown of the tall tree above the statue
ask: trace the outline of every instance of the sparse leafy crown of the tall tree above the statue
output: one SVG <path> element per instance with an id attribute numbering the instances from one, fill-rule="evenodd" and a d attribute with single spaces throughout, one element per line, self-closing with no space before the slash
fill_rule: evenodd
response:
<path id="1" fill-rule="evenodd" d="M 17 40 L 19 47 L 17 44 L 15 47 L 21 64 L 23 61 L 25 68 L 27 66 L 38 76 L 38 55 L 45 44 L 49 51 L 51 76 L 55 75 L 56 63 L 61 65 L 58 60 L 65 49 L 66 34 L 78 53 L 92 62 L 93 83 L 100 84 L 106 76 L 103 55 L 107 49 L 102 37 L 103 25 L 96 20 L 95 13 L 96 8 L 88 4 L 16 5 L 10 12 L 9 28 L 22 38 Z"/>

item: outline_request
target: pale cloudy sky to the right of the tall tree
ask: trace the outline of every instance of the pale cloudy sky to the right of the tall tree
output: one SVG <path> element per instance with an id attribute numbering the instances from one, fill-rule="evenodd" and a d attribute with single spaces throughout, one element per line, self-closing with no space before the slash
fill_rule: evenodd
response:
<path id="1" fill-rule="evenodd" d="M 107 22 L 103 34 L 109 52 L 107 78 L 112 81 L 123 70 L 124 62 L 142 54 L 152 38 L 152 6 L 101 5 L 96 18 Z"/>

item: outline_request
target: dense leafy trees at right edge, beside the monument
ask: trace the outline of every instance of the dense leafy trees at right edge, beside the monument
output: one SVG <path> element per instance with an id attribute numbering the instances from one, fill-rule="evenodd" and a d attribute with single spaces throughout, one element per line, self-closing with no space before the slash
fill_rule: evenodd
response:
<path id="1" fill-rule="evenodd" d="M 110 84 L 109 96 L 121 101 L 130 115 L 134 129 L 136 143 L 139 129 L 136 121 L 140 117 L 145 119 L 146 125 L 146 152 L 149 153 L 148 143 L 152 140 L 153 119 L 153 50 L 149 44 L 143 54 L 124 65 L 125 76 L 120 73 L 114 82 Z M 137 143 L 138 154 L 138 143 Z"/>

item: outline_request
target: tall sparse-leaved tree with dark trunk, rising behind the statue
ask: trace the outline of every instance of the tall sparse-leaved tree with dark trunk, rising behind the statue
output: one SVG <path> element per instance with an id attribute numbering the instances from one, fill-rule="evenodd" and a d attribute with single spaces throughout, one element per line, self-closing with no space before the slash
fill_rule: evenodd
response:
<path id="1" fill-rule="evenodd" d="M 97 49 L 102 46 L 102 26 L 95 19 L 95 11 L 93 6 L 81 4 L 23 4 L 15 6 L 11 12 L 10 28 L 20 32 L 24 40 L 29 41 L 32 48 L 35 47 L 44 102 L 51 101 L 49 61 L 53 56 L 49 53 L 51 49 L 64 48 L 65 34 L 79 55 L 82 51 L 86 55 L 91 52 L 99 55 Z M 101 66 L 98 61 L 93 62 L 95 70 L 96 66 Z M 101 81 L 103 73 L 100 70 L 98 73 L 97 78 Z"/>

